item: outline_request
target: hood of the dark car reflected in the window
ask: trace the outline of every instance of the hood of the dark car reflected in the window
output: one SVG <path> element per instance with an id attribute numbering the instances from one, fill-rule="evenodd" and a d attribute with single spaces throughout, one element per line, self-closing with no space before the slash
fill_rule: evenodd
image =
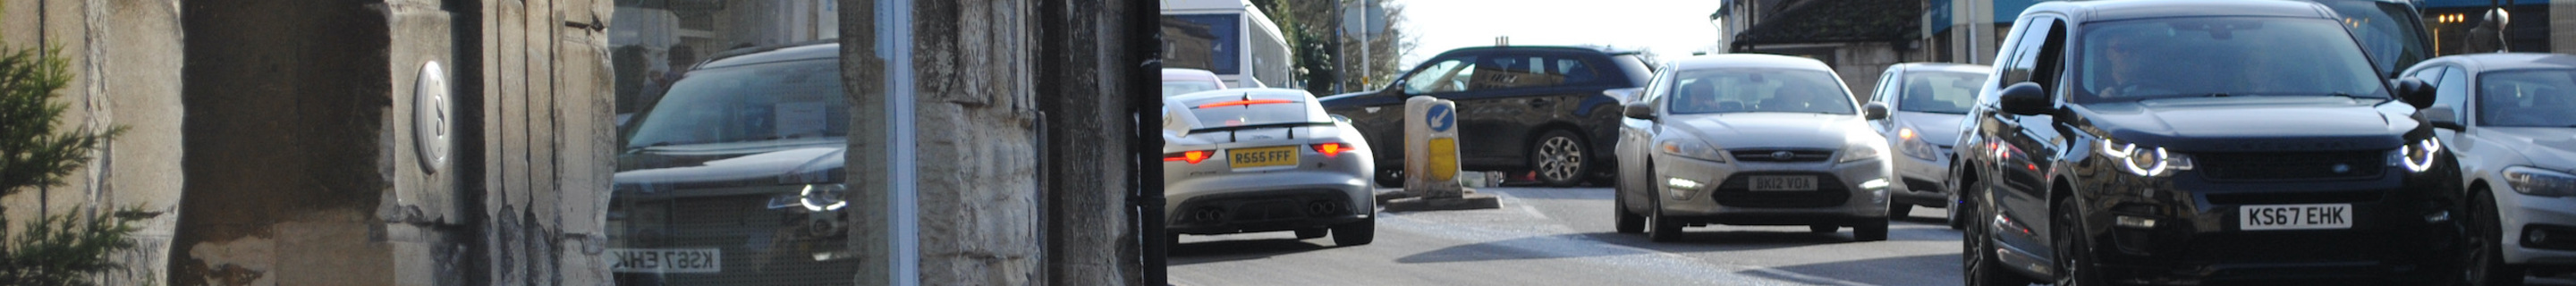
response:
<path id="1" fill-rule="evenodd" d="M 783 183 L 837 183 L 842 175 L 840 139 L 804 144 L 755 147 L 654 147 L 618 157 L 618 186 L 654 188 L 724 188 L 724 186 L 783 186 Z"/>

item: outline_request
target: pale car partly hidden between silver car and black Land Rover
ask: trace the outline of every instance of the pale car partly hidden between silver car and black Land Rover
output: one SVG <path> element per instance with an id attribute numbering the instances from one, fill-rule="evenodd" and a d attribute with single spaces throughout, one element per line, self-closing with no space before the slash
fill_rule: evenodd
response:
<path id="1" fill-rule="evenodd" d="M 1893 147 L 1888 152 L 1896 152 L 1891 155 L 1896 165 L 1896 191 L 1888 191 L 1888 198 L 1896 201 L 1888 206 L 1891 216 L 1906 216 L 1914 206 L 1935 206 L 1950 211 L 1950 229 L 1965 227 L 1955 206 L 1960 196 L 1942 180 L 1950 178 L 1950 144 L 1958 144 L 1958 124 L 1968 119 L 1968 103 L 1976 103 L 1976 85 L 1986 85 L 1986 72 L 1994 67 L 1906 62 L 1878 75 L 1868 106 L 1891 111 L 1888 119 L 1870 121 L 1870 129 L 1888 137 L 1888 147 Z"/>

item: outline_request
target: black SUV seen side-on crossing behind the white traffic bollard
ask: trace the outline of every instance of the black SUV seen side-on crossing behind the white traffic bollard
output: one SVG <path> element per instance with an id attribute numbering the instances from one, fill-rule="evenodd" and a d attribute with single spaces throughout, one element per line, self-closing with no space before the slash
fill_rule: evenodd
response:
<path id="1" fill-rule="evenodd" d="M 1633 52 L 1595 46 L 1468 46 L 1440 52 L 1383 90 L 1319 98 L 1347 116 L 1378 152 L 1378 183 L 1404 170 L 1404 98 L 1458 103 L 1458 160 L 1466 170 L 1535 170 L 1540 183 L 1610 178 L 1620 103 L 1643 88 Z"/>

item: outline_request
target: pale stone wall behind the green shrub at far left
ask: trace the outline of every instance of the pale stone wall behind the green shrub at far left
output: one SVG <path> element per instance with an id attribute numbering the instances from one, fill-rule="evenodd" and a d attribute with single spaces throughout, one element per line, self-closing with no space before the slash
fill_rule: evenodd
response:
<path id="1" fill-rule="evenodd" d="M 180 28 L 178 0 L 5 0 L 0 49 L 54 46 L 75 75 L 57 90 L 72 129 L 126 126 L 100 147 L 70 186 L 0 198 L 8 219 L 139 206 L 162 216 L 142 222 L 126 273 L 100 283 L 157 281 L 178 227 L 180 186 Z"/>

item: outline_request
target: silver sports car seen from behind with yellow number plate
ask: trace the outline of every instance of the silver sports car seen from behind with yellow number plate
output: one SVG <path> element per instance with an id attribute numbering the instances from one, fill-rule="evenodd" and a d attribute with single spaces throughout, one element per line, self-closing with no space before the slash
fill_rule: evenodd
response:
<path id="1" fill-rule="evenodd" d="M 1306 90 L 1234 88 L 1164 98 L 1167 232 L 1376 237 L 1368 139 Z"/>

